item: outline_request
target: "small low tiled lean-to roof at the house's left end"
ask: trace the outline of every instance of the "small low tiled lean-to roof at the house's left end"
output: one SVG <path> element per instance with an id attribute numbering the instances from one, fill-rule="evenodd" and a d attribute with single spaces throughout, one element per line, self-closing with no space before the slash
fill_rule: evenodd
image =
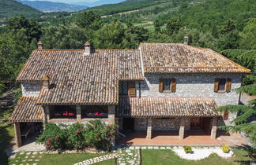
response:
<path id="1" fill-rule="evenodd" d="M 21 97 L 14 108 L 10 122 L 42 122 L 43 108 L 36 105 L 37 97 Z"/>

